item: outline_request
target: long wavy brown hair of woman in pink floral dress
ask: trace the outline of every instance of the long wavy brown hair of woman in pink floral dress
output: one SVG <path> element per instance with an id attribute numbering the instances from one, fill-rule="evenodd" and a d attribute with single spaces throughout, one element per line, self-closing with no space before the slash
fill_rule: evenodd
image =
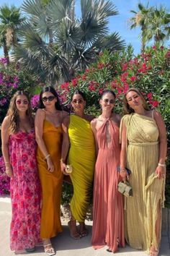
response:
<path id="1" fill-rule="evenodd" d="M 26 115 L 28 116 L 28 119 L 29 119 L 32 127 L 34 124 L 33 117 L 32 117 L 32 108 L 31 108 L 30 97 L 29 97 L 28 93 L 25 93 L 22 90 L 18 90 L 16 93 L 14 93 L 14 95 L 10 101 L 10 104 L 9 104 L 8 112 L 6 114 L 6 116 L 9 116 L 9 133 L 15 133 L 15 132 L 18 132 L 18 130 L 19 130 L 19 114 L 18 114 L 18 110 L 17 110 L 17 106 L 16 106 L 16 99 L 17 99 L 17 96 L 19 96 L 19 95 L 24 95 L 27 97 L 28 108 L 27 108 Z"/>

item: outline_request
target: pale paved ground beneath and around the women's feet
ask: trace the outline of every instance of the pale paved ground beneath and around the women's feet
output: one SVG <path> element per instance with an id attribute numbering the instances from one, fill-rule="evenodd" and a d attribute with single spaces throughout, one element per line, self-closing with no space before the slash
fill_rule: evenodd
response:
<path id="1" fill-rule="evenodd" d="M 14 256 L 14 252 L 9 249 L 9 224 L 11 220 L 11 204 L 9 197 L 0 197 L 0 256 Z M 63 221 L 63 232 L 53 239 L 53 245 L 58 256 L 109 256 L 107 247 L 94 250 L 91 247 L 91 221 L 86 221 L 89 229 L 89 236 L 79 240 L 74 240 L 69 236 L 66 221 Z M 28 255 L 22 253 L 22 255 Z M 42 247 L 37 247 L 32 256 L 45 256 Z M 128 246 L 120 248 L 117 256 L 146 256 L 145 252 L 137 251 Z M 160 256 L 170 256 L 167 232 L 162 235 Z"/>

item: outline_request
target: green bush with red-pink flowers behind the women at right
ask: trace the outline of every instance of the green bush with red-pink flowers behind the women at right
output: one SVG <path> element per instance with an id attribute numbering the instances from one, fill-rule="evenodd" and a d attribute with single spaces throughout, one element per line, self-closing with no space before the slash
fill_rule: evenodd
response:
<path id="1" fill-rule="evenodd" d="M 87 111 L 99 113 L 99 98 L 103 90 L 115 91 L 115 111 L 122 112 L 122 98 L 130 87 L 143 92 L 151 108 L 161 112 L 170 143 L 170 51 L 163 46 L 148 47 L 144 54 L 133 57 L 130 47 L 120 53 L 100 54 L 99 60 L 71 82 L 61 85 L 63 103 L 71 101 L 74 90 L 82 90 L 87 98 Z"/>

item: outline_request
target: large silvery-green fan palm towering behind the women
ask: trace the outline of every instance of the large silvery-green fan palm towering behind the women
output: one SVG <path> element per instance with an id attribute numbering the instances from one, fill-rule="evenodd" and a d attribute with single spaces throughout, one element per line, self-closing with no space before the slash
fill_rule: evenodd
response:
<path id="1" fill-rule="evenodd" d="M 79 19 L 75 0 L 26 0 L 22 11 L 30 18 L 14 57 L 43 81 L 71 80 L 99 51 L 118 51 L 125 46 L 117 33 L 106 38 L 109 17 L 117 14 L 111 0 L 81 0 Z"/>

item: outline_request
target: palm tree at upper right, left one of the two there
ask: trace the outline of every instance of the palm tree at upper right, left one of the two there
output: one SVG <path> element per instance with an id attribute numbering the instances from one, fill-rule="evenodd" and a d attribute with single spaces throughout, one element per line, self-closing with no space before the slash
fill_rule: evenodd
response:
<path id="1" fill-rule="evenodd" d="M 146 7 L 143 6 L 143 4 L 138 4 L 138 11 L 131 10 L 133 14 L 135 14 L 134 17 L 130 18 L 130 29 L 133 29 L 135 27 L 141 28 L 140 38 L 142 40 L 142 46 L 141 51 L 145 51 L 146 48 L 146 33 L 148 30 L 148 24 L 151 20 L 151 12 L 153 7 L 148 7 L 148 4 Z"/>

